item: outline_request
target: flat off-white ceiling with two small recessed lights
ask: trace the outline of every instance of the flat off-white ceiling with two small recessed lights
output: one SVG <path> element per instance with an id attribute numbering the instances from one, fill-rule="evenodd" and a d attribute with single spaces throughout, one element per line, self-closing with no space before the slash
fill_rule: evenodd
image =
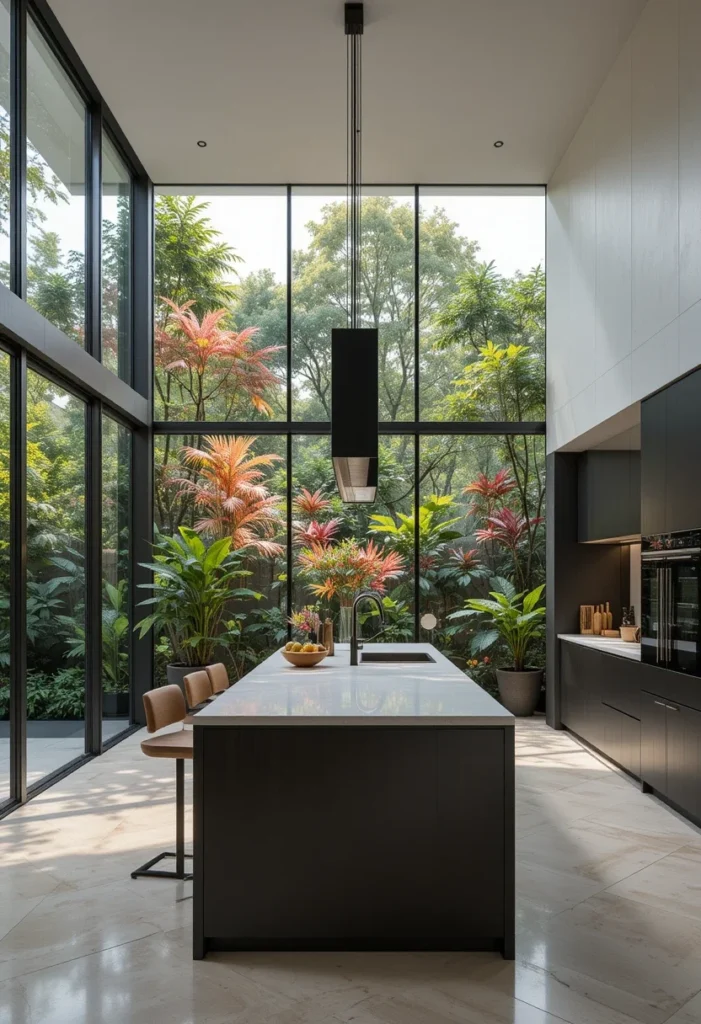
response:
<path id="1" fill-rule="evenodd" d="M 51 6 L 156 182 L 345 180 L 341 0 Z M 363 180 L 547 181 L 644 6 L 367 0 Z"/>

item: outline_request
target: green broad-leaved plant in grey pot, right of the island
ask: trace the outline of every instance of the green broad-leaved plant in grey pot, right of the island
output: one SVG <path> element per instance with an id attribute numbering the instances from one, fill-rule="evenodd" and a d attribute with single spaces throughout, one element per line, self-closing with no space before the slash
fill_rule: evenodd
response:
<path id="1" fill-rule="evenodd" d="M 497 668 L 496 681 L 505 708 L 512 715 L 532 715 L 540 696 L 542 669 L 528 667 L 528 654 L 535 640 L 542 637 L 545 628 L 545 606 L 539 604 L 544 584 L 529 593 L 516 593 L 508 580 L 492 581 L 494 590 L 487 598 L 469 598 L 465 610 L 458 615 L 484 615 L 487 629 L 474 637 L 472 653 L 480 654 L 501 643 L 509 651 L 511 664 Z M 498 589 L 497 589 L 498 588 Z"/>

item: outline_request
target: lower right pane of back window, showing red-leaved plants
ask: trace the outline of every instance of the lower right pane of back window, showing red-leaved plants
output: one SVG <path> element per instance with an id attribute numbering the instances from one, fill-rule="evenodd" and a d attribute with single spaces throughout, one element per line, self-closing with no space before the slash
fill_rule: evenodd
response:
<path id="1" fill-rule="evenodd" d="M 507 668 L 508 652 L 480 649 L 486 624 L 461 612 L 499 581 L 519 593 L 545 582 L 544 438 L 422 437 L 420 496 L 421 610 L 438 620 L 422 639 L 495 693 L 493 666 Z M 544 665 L 544 640 L 530 658 Z"/>

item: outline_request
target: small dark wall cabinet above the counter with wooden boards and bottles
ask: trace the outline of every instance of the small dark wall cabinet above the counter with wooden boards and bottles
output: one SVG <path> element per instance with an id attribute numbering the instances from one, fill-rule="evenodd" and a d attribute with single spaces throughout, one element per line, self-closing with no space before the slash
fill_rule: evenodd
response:
<path id="1" fill-rule="evenodd" d="M 632 541 L 641 534 L 640 452 L 579 457 L 578 540 Z"/>

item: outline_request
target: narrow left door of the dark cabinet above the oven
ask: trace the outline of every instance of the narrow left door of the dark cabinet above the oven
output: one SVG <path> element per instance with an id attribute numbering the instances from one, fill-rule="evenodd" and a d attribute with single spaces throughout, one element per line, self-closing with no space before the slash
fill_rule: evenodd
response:
<path id="1" fill-rule="evenodd" d="M 667 390 L 646 398 L 641 409 L 641 530 L 664 534 L 667 501 Z"/>

